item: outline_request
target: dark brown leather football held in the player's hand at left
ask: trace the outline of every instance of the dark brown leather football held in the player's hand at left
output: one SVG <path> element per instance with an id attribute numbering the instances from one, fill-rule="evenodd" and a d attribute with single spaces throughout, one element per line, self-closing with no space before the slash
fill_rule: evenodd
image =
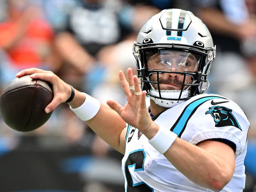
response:
<path id="1" fill-rule="evenodd" d="M 28 132 L 42 126 L 52 115 L 44 108 L 52 101 L 52 86 L 29 75 L 12 80 L 0 95 L 0 115 L 10 128 Z"/>

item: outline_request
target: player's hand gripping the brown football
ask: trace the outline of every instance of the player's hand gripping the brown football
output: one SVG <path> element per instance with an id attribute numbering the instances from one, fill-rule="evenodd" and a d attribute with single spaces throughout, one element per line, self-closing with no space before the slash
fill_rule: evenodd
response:
<path id="1" fill-rule="evenodd" d="M 51 71 L 45 71 L 38 68 L 25 69 L 16 74 L 16 77 L 30 75 L 32 79 L 40 79 L 52 84 L 54 93 L 53 100 L 46 106 L 45 112 L 49 113 L 54 110 L 60 103 L 68 100 L 71 94 L 70 86 L 61 80 L 56 74 Z"/>

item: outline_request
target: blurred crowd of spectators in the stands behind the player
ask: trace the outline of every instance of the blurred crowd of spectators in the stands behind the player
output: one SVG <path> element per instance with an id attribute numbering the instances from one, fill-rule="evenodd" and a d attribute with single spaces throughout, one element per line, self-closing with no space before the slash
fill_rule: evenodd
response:
<path id="1" fill-rule="evenodd" d="M 118 71 L 131 67 L 136 73 L 132 45 L 138 31 L 165 8 L 192 11 L 212 34 L 217 58 L 208 92 L 234 100 L 246 112 L 251 127 L 245 191 L 256 191 L 256 150 L 251 150 L 256 146 L 256 0 L 1 0 L 0 90 L 18 71 L 37 67 L 53 71 L 103 103 L 112 99 L 125 104 Z M 114 192 L 104 186 L 113 183 L 106 180 L 111 174 L 117 185 L 123 185 L 121 165 L 115 161 L 121 156 L 66 104 L 32 132 L 16 132 L 0 120 L 0 159 L 28 138 L 36 138 L 30 144 L 46 150 L 80 149 L 93 157 L 94 164 L 107 164 L 105 174 L 83 171 L 81 177 L 92 181 L 80 191 Z"/>

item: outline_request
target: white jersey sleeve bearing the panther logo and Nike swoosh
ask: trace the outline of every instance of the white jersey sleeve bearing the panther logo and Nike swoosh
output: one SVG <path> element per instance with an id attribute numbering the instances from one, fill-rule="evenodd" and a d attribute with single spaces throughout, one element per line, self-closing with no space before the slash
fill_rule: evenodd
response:
<path id="1" fill-rule="evenodd" d="M 221 138 L 236 145 L 236 157 L 246 146 L 250 124 L 242 109 L 231 100 L 215 99 L 202 104 L 190 119 L 192 144 Z"/>

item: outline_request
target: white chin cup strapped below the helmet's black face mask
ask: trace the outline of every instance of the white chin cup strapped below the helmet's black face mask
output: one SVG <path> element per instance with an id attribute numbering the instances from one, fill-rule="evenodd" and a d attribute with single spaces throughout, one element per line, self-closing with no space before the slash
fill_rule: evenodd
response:
<path id="1" fill-rule="evenodd" d="M 161 97 L 163 98 L 168 98 L 168 97 L 179 98 L 180 92 L 181 90 L 160 90 Z M 157 98 L 159 97 L 158 90 L 150 90 L 150 94 L 152 95 L 152 96 L 149 96 L 150 99 L 154 100 L 154 102 L 161 107 L 170 108 L 184 102 L 184 100 L 165 100 L 165 99 Z M 188 98 L 188 97 L 189 97 L 189 90 L 183 90 L 180 98 Z"/>

